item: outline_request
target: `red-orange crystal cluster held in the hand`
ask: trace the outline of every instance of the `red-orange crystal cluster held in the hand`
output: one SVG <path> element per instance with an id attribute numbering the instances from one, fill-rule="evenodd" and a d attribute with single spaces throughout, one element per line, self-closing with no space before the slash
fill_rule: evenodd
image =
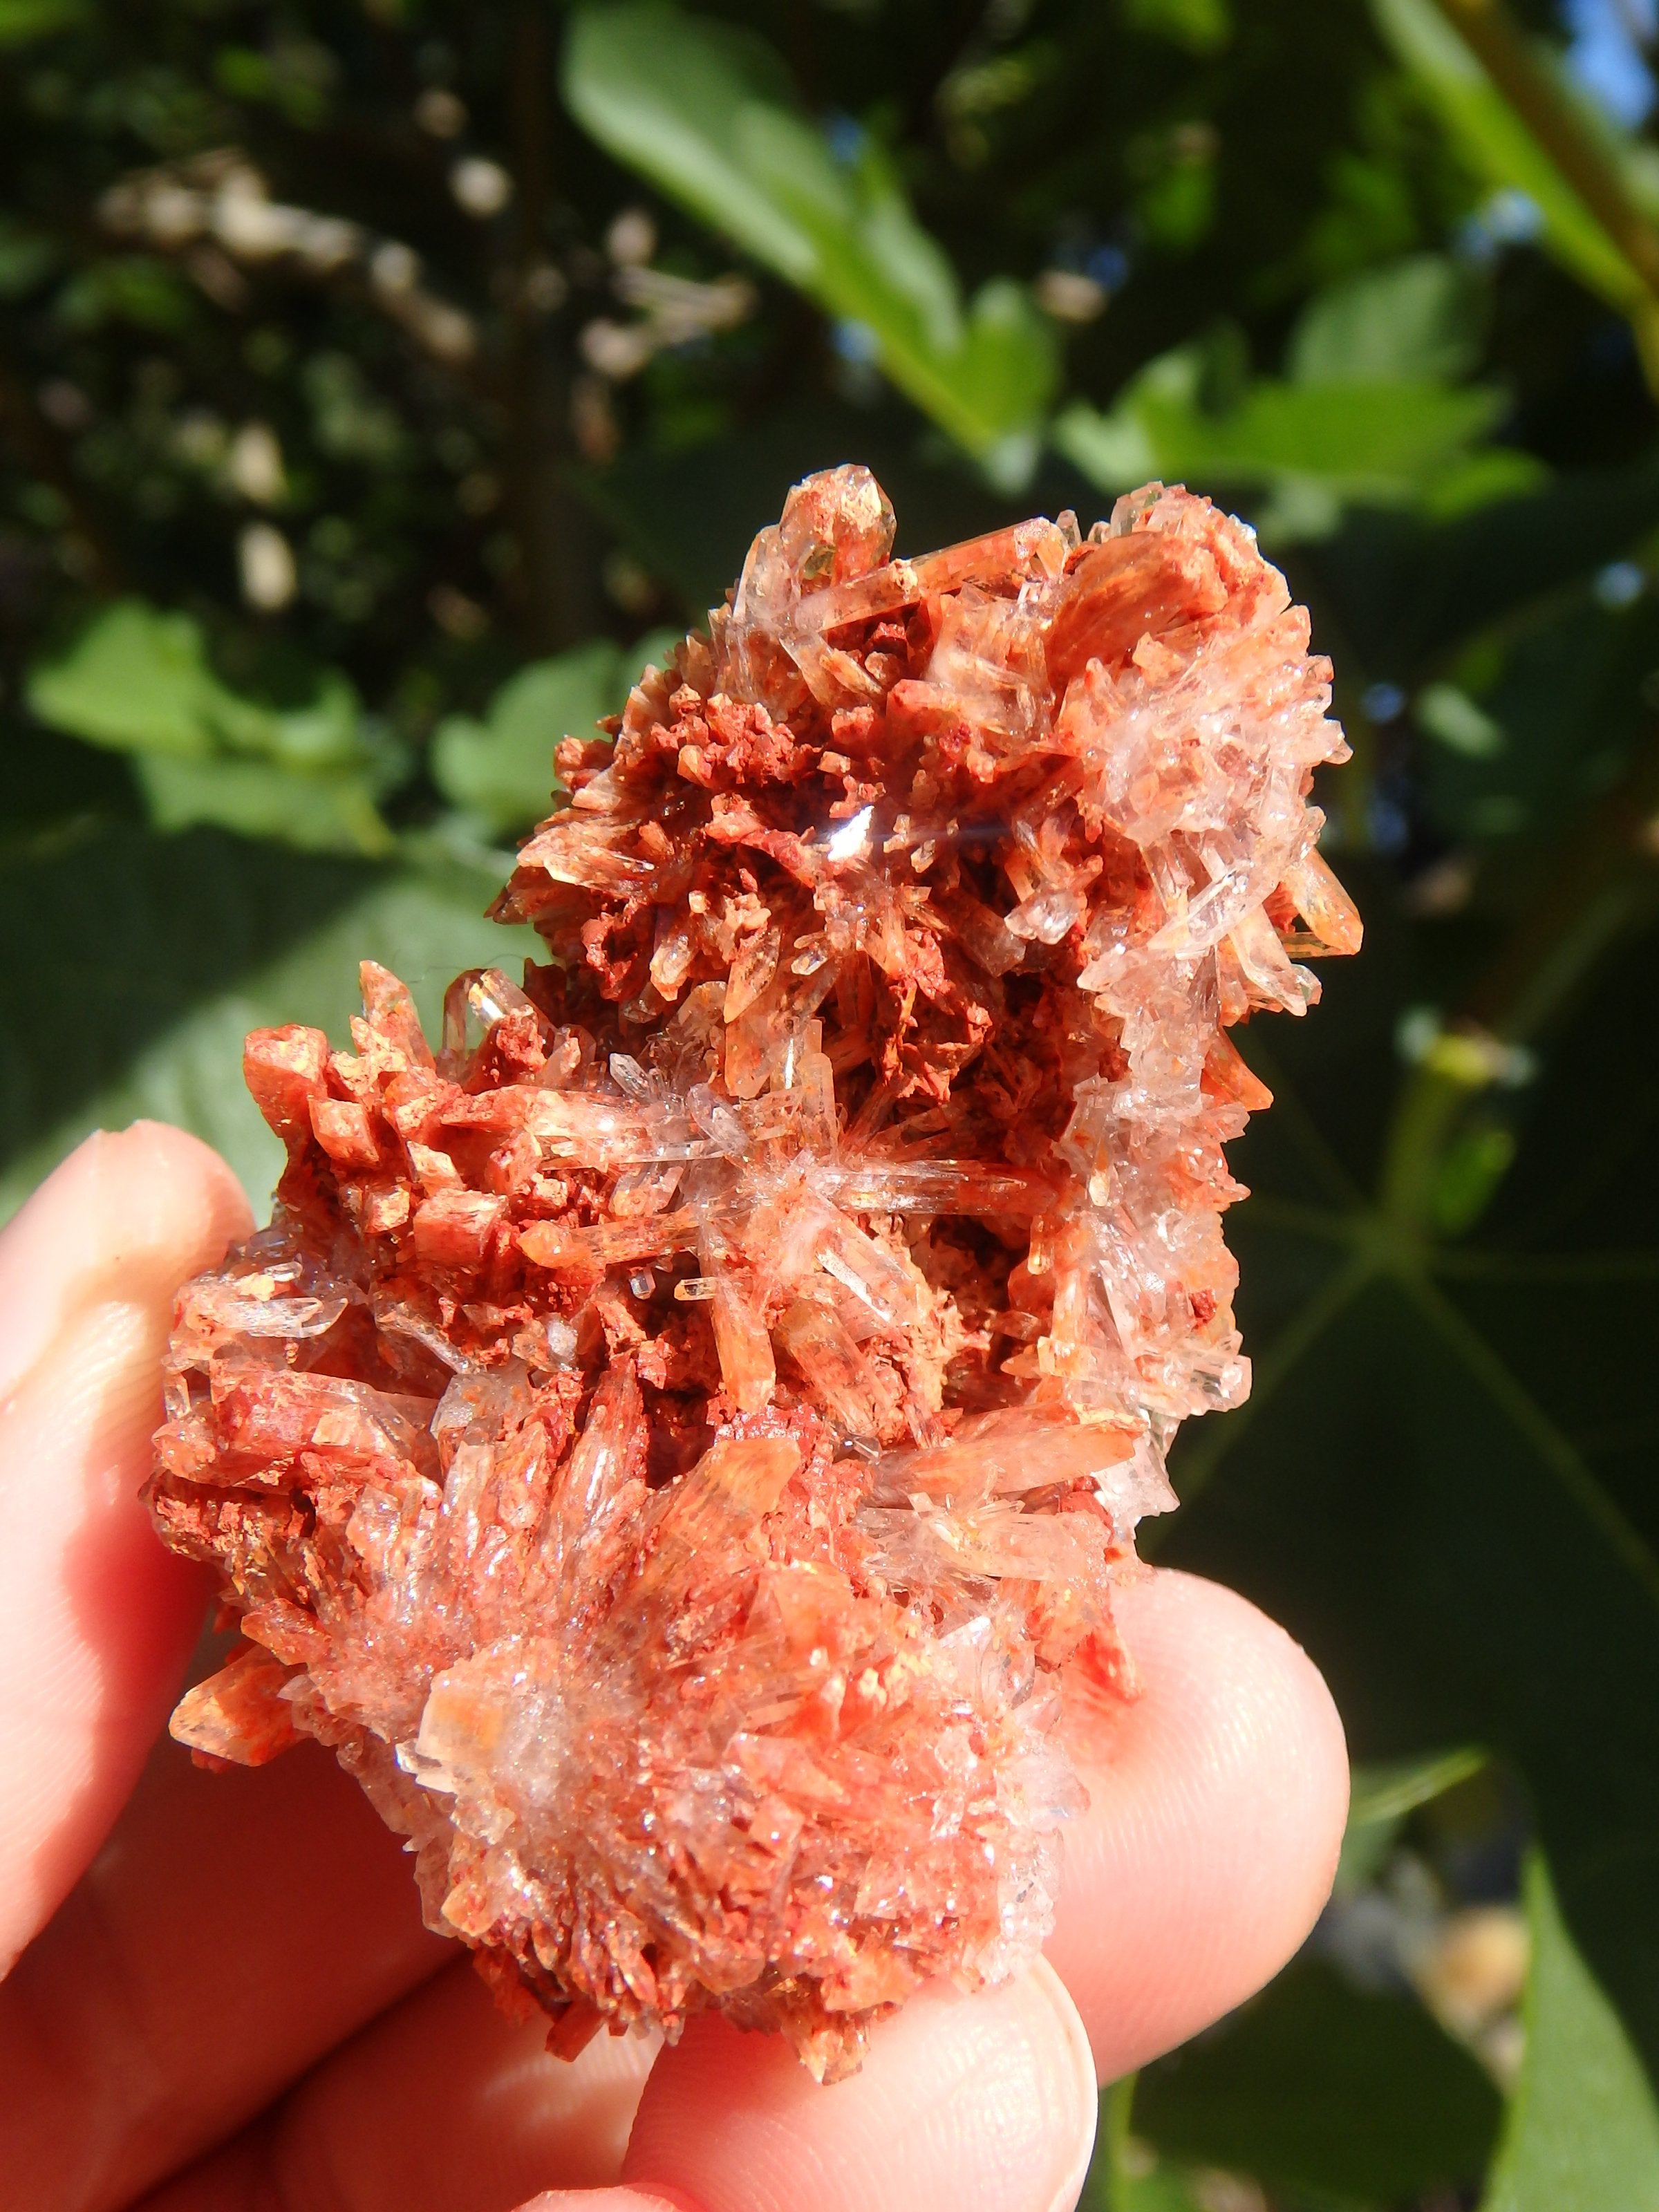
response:
<path id="1" fill-rule="evenodd" d="M 332 1745 L 555 2048 L 714 2006 L 834 2077 L 1042 1942 L 1057 1670 L 1248 1389 L 1225 1031 L 1358 945 L 1248 529 L 891 540 L 799 484 L 557 748 L 522 989 L 248 1040 L 288 1172 L 179 1298 L 150 1504 L 248 1646 L 175 1734 Z"/>

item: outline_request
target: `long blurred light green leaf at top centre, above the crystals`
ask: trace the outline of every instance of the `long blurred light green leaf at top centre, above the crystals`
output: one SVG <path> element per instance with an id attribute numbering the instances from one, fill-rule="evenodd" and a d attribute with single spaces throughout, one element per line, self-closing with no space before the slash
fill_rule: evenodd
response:
<path id="1" fill-rule="evenodd" d="M 874 139 L 838 159 L 759 40 L 659 0 L 582 11 L 564 100 L 619 161 L 869 332 L 887 376 L 1006 478 L 1035 462 L 1057 378 L 1048 323 L 1013 283 L 962 301 Z"/>

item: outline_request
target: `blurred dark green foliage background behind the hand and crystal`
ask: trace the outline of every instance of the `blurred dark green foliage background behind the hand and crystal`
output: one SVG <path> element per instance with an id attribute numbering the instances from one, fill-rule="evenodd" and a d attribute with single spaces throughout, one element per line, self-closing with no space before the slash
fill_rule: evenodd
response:
<path id="1" fill-rule="evenodd" d="M 1117 2212 L 1659 2205 L 1641 22 L 0 0 L 4 1208 L 133 1113 L 261 1197 L 243 1029 L 500 960 L 553 745 L 812 467 L 907 551 L 1186 478 L 1310 604 L 1367 951 L 1243 1040 L 1256 1387 L 1146 1537 L 1365 1767 L 1310 1951 L 1106 2097 Z"/>

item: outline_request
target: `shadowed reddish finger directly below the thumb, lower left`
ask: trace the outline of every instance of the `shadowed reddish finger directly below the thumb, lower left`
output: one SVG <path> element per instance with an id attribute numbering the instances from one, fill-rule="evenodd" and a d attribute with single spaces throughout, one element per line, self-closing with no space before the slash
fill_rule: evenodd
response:
<path id="1" fill-rule="evenodd" d="M 108 2212 L 456 1958 L 319 1745 L 201 1774 L 161 1743 L 0 1986 L 7 2205 Z"/>

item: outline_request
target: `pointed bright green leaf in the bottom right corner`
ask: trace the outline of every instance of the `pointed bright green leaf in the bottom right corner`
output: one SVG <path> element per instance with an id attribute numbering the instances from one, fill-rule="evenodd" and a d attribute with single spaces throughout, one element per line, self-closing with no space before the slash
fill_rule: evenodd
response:
<path id="1" fill-rule="evenodd" d="M 1551 1887 L 1526 1869 L 1526 2059 L 1482 2212 L 1655 2212 L 1659 2108 Z"/>

